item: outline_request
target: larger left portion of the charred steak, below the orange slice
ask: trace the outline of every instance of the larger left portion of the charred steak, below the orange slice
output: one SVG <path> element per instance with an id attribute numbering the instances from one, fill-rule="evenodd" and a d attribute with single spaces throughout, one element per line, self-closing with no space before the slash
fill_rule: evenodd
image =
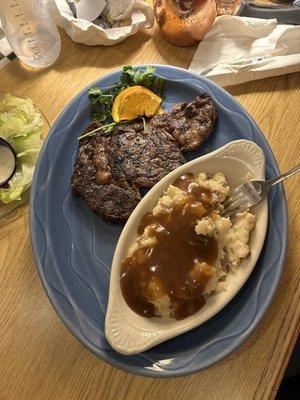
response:
<path id="1" fill-rule="evenodd" d="M 93 122 L 87 131 L 96 127 Z M 141 200 L 138 187 L 152 187 L 183 163 L 168 133 L 144 132 L 141 123 L 120 124 L 110 136 L 97 133 L 80 142 L 72 187 L 95 213 L 125 222 Z"/>

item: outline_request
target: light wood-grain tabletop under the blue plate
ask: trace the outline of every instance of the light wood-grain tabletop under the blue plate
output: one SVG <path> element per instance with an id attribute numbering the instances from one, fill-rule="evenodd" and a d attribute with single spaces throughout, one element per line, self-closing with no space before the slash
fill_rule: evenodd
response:
<path id="1" fill-rule="evenodd" d="M 0 90 L 29 96 L 51 123 L 84 86 L 134 63 L 188 67 L 195 48 L 176 48 L 157 32 L 113 47 L 73 43 L 62 32 L 53 68 L 26 70 L 18 60 L 0 71 Z M 268 138 L 279 166 L 299 162 L 300 75 L 229 89 Z M 272 399 L 299 332 L 299 177 L 286 182 L 289 246 L 275 299 L 258 329 L 223 362 L 184 378 L 149 379 L 122 372 L 88 352 L 61 323 L 36 271 L 28 204 L 0 230 L 0 399 Z"/>

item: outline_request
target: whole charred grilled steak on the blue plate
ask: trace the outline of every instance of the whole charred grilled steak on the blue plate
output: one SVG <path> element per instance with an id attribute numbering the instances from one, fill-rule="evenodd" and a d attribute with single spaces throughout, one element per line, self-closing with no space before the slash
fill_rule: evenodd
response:
<path id="1" fill-rule="evenodd" d="M 80 141 L 72 188 L 92 210 L 112 222 L 125 222 L 141 200 L 139 188 L 152 187 L 184 163 L 181 150 L 197 148 L 212 132 L 216 109 L 208 95 L 180 103 L 139 122 L 117 125 Z M 87 132 L 99 127 L 93 122 Z"/>

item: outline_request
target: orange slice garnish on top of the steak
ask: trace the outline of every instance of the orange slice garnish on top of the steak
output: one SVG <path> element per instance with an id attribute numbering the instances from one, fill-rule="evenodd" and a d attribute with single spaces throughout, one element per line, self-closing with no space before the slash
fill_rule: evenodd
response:
<path id="1" fill-rule="evenodd" d="M 162 99 L 143 86 L 124 89 L 115 98 L 112 117 L 115 122 L 130 121 L 140 116 L 152 117 L 160 109 Z"/>

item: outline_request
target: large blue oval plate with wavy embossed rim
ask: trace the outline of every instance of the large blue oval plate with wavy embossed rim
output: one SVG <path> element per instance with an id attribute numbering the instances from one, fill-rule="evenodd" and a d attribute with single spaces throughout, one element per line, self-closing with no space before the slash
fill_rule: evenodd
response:
<path id="1" fill-rule="evenodd" d="M 266 175 L 279 173 L 272 151 L 249 114 L 227 92 L 190 71 L 157 65 L 167 79 L 164 107 L 190 101 L 203 91 L 214 100 L 215 132 L 188 160 L 236 139 L 253 140 L 266 156 Z M 90 86 L 113 85 L 120 71 Z M 104 320 L 109 274 L 121 226 L 105 222 L 73 195 L 70 180 L 77 137 L 90 122 L 88 89 L 68 104 L 40 153 L 31 189 L 30 229 L 36 264 L 45 290 L 62 321 L 89 350 L 123 370 L 152 377 L 174 377 L 206 368 L 232 352 L 254 330 L 270 305 L 283 268 L 287 210 L 282 186 L 269 196 L 269 226 L 260 259 L 238 295 L 200 327 L 135 356 L 107 343 Z"/>

